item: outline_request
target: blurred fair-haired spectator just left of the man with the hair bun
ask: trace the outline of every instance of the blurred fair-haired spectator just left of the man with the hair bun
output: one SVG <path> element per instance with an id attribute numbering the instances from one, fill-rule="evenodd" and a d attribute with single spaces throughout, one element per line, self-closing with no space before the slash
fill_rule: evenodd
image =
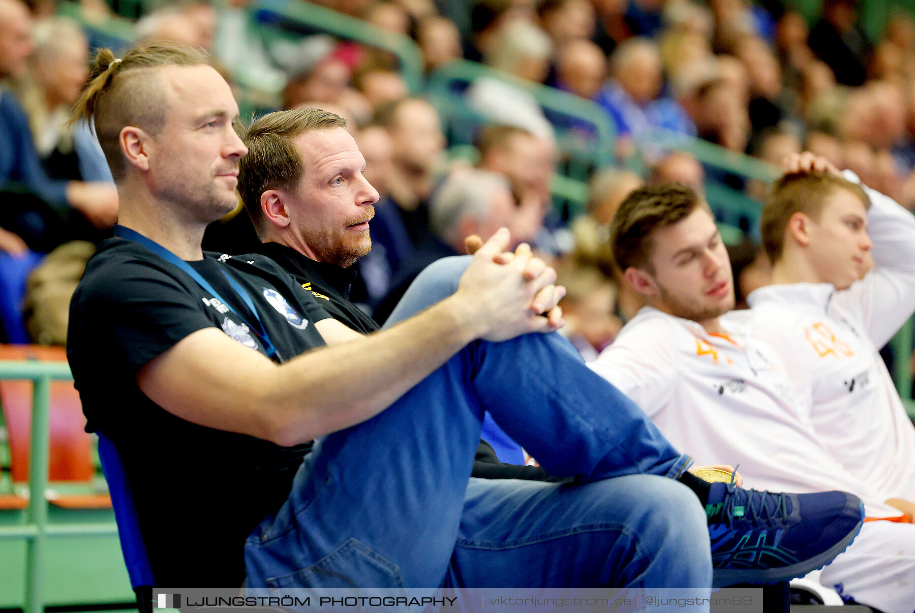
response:
<path id="1" fill-rule="evenodd" d="M 112 181 L 102 147 L 89 126 L 68 124 L 70 106 L 89 78 L 85 35 L 69 19 L 50 17 L 38 23 L 32 38 L 31 70 L 19 82 L 17 93 L 48 177 Z"/>

